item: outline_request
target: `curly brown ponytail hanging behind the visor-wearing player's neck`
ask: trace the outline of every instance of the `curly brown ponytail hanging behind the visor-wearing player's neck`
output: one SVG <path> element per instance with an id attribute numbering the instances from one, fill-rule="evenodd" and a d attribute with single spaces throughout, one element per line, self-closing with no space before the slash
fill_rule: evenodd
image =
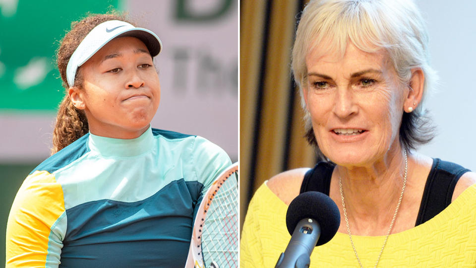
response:
<path id="1" fill-rule="evenodd" d="M 51 154 L 58 152 L 88 132 L 88 120 L 84 111 L 76 109 L 69 95 L 66 94 L 61 101 L 56 117 Z"/>

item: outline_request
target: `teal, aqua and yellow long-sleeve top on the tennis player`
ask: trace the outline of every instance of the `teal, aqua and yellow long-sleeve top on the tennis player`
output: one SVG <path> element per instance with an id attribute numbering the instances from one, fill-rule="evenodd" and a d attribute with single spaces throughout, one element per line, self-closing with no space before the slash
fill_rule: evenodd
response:
<path id="1" fill-rule="evenodd" d="M 196 207 L 231 164 L 207 139 L 149 128 L 86 134 L 26 178 L 7 224 L 7 267 L 183 267 Z"/>

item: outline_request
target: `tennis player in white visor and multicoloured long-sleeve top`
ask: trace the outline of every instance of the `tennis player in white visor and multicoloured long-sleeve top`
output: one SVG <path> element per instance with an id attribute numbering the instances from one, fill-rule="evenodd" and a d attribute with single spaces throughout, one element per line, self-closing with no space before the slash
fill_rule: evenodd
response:
<path id="1" fill-rule="evenodd" d="M 203 137 L 152 129 L 159 37 L 120 14 L 72 23 L 53 155 L 26 178 L 7 267 L 183 267 L 196 204 L 231 164 Z"/>

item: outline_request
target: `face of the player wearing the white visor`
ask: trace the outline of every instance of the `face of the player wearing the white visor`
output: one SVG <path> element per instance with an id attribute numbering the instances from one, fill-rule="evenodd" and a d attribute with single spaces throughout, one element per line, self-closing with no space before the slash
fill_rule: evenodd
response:
<path id="1" fill-rule="evenodd" d="M 81 66 L 83 87 L 71 87 L 92 134 L 135 138 L 144 133 L 160 101 L 159 76 L 142 41 L 119 37 Z"/>

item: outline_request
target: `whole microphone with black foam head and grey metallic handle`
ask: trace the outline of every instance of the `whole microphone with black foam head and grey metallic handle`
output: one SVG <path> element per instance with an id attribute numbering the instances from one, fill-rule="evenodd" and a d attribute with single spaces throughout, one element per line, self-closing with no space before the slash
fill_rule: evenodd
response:
<path id="1" fill-rule="evenodd" d="M 339 208 L 330 197 L 312 191 L 298 195 L 286 213 L 291 240 L 275 268 L 308 268 L 314 247 L 329 242 L 340 223 Z"/>

